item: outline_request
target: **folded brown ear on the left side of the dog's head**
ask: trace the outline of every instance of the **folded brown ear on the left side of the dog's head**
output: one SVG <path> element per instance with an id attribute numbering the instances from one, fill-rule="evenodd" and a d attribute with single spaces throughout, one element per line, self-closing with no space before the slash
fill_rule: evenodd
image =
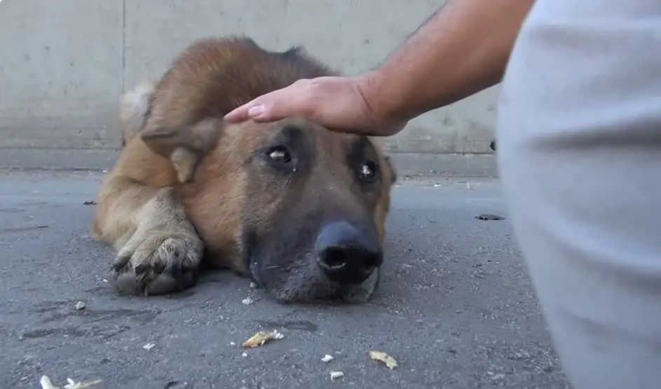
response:
<path id="1" fill-rule="evenodd" d="M 221 118 L 205 118 L 187 128 L 155 128 L 142 132 L 142 142 L 170 158 L 182 184 L 193 179 L 200 162 L 216 146 L 225 126 Z"/>

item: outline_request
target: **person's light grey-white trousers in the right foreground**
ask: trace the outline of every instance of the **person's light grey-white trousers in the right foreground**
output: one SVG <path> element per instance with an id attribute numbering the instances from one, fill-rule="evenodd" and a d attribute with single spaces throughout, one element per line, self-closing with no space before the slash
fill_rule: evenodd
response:
<path id="1" fill-rule="evenodd" d="M 538 0 L 498 109 L 510 216 L 575 389 L 661 388 L 661 0 Z"/>

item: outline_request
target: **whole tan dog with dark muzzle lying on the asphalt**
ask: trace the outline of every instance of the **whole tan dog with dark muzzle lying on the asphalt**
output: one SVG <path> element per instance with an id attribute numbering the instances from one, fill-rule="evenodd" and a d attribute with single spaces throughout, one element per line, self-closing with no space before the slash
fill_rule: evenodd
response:
<path id="1" fill-rule="evenodd" d="M 93 222 L 118 251 L 112 285 L 176 292 L 196 285 L 205 261 L 279 301 L 366 301 L 395 182 L 379 145 L 301 118 L 223 121 L 254 97 L 332 74 L 301 48 L 204 39 L 123 95 L 123 146 Z"/>

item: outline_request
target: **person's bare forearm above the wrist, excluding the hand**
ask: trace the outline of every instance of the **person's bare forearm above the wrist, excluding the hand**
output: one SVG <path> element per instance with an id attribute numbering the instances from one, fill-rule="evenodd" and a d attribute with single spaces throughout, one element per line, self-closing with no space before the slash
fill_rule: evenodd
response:
<path id="1" fill-rule="evenodd" d="M 362 77 L 365 99 L 407 121 L 499 83 L 533 0 L 448 0 L 388 60 Z"/>

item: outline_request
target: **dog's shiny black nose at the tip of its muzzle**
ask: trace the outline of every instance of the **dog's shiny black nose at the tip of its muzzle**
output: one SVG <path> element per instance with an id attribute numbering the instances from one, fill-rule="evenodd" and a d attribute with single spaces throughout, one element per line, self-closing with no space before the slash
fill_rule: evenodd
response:
<path id="1" fill-rule="evenodd" d="M 316 249 L 319 267 L 334 282 L 360 284 L 383 264 L 376 233 L 360 231 L 346 221 L 325 226 Z"/>

